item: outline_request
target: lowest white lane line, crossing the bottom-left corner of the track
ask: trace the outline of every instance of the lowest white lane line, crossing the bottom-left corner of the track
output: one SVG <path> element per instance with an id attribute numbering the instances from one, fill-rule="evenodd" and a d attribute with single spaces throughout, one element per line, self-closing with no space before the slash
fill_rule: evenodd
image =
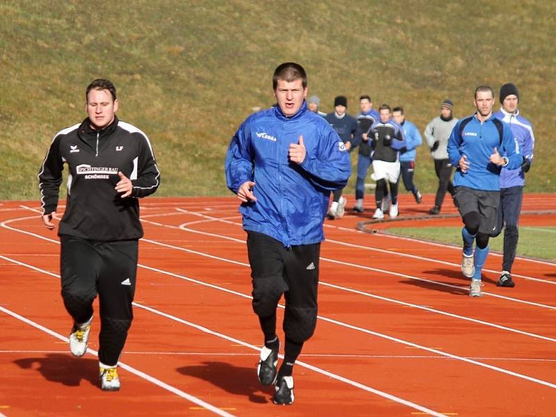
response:
<path id="1" fill-rule="evenodd" d="M 47 333 L 50 336 L 53 336 L 55 338 L 58 338 L 60 341 L 64 341 L 65 343 L 69 343 L 69 339 L 65 336 L 62 336 L 59 333 L 54 332 L 54 330 L 48 329 L 47 327 L 44 327 L 40 324 L 38 324 L 38 322 L 34 322 L 33 320 L 30 320 L 24 316 L 21 316 L 17 313 L 15 313 L 14 311 L 5 309 L 4 307 L 0 306 L 0 311 L 2 311 L 3 313 L 8 314 L 8 316 L 12 316 L 13 318 L 16 318 L 17 320 L 20 320 L 32 327 L 35 327 L 35 329 L 39 329 L 41 332 Z M 87 349 L 87 352 L 90 354 L 93 354 L 95 356 L 98 356 L 98 352 L 96 350 L 92 350 L 90 348 Z M 154 384 L 156 386 L 161 387 L 162 389 L 165 389 L 166 391 L 170 391 L 171 393 L 178 395 L 181 398 L 184 398 L 185 400 L 188 400 L 190 402 L 193 402 L 194 404 L 197 404 L 201 407 L 204 407 L 204 409 L 207 409 L 208 411 L 212 411 L 214 414 L 218 414 L 219 416 L 232 416 L 232 414 L 227 413 L 226 411 L 222 411 L 220 409 L 218 409 L 218 407 L 213 406 L 212 404 L 208 404 L 208 402 L 205 402 L 203 400 L 200 400 L 197 397 L 194 397 L 193 395 L 190 395 L 184 391 L 181 391 L 180 389 L 177 389 L 174 386 L 171 386 L 169 384 L 166 384 L 165 382 L 162 382 L 160 379 L 152 377 L 151 375 L 148 375 L 147 373 L 144 373 L 140 370 L 138 370 L 137 368 L 133 368 L 133 366 L 129 366 L 126 363 L 123 362 L 118 362 L 118 365 L 122 368 L 127 370 L 129 373 L 132 373 L 133 375 L 137 375 L 138 377 L 142 378 L 142 379 L 146 379 L 148 382 L 150 382 L 151 384 Z"/>

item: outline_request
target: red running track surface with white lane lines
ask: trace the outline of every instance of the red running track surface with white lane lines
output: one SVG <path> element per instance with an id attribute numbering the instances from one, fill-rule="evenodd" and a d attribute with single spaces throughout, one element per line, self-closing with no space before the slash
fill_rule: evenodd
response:
<path id="1" fill-rule="evenodd" d="M 432 198 L 417 206 L 402 196 L 401 214 L 423 215 Z M 67 351 L 58 238 L 37 203 L 0 204 L 0 415 L 556 415 L 555 263 L 517 259 L 516 287 L 498 288 L 501 259 L 491 254 L 475 299 L 459 248 L 362 233 L 356 225 L 372 213 L 350 212 L 326 223 L 320 320 L 295 368 L 295 404 L 272 404 L 254 370 L 262 337 L 236 201 L 143 200 L 117 393 L 99 388 L 94 354 Z M 540 209 L 554 211 L 556 196 L 525 197 L 523 211 Z M 556 215 L 521 223 L 555 226 Z M 403 224 L 431 222 L 366 227 Z M 92 350 L 98 323 L 95 315 Z"/>

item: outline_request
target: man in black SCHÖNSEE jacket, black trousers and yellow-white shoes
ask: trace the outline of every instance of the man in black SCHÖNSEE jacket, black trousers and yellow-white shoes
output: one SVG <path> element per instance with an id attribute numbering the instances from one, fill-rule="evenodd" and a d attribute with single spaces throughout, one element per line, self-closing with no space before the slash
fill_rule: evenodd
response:
<path id="1" fill-rule="evenodd" d="M 145 133 L 117 119 L 113 83 L 96 79 L 85 97 L 88 117 L 54 136 L 38 174 L 42 220 L 48 229 L 56 227 L 67 163 L 67 202 L 58 235 L 62 297 L 74 320 L 70 350 L 76 357 L 85 354 L 98 294 L 101 386 L 117 391 L 116 366 L 133 319 L 138 240 L 143 236 L 138 197 L 156 191 L 160 172 Z"/>

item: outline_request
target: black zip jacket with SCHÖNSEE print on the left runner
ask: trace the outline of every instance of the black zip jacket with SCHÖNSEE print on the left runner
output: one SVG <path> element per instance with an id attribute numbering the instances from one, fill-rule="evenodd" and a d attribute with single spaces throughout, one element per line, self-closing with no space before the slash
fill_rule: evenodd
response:
<path id="1" fill-rule="evenodd" d="M 95 241 L 143 236 L 137 197 L 154 193 L 160 183 L 145 133 L 117 118 L 101 131 L 91 129 L 87 118 L 58 132 L 38 174 L 43 214 L 56 211 L 64 163 L 70 174 L 59 235 Z M 118 171 L 133 183 L 130 197 L 114 188 Z"/>

